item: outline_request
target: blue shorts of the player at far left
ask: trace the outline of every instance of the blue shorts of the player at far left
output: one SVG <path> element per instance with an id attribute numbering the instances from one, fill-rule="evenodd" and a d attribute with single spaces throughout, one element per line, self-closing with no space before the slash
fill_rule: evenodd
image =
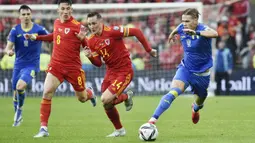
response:
<path id="1" fill-rule="evenodd" d="M 14 69 L 12 73 L 12 89 L 16 90 L 18 80 L 23 80 L 28 84 L 31 83 L 32 79 L 36 76 L 35 68 L 28 67 L 22 69 Z"/>

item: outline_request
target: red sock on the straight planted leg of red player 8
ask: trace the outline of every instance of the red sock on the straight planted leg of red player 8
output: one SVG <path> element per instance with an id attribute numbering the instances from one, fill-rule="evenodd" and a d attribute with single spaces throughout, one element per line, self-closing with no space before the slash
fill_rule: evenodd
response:
<path id="1" fill-rule="evenodd" d="M 50 112 L 51 112 L 51 100 L 42 99 L 40 110 L 41 126 L 48 126 Z"/>

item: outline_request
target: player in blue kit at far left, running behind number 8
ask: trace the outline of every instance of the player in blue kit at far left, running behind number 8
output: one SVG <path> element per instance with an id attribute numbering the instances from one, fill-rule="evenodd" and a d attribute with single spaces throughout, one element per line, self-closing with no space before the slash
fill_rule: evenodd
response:
<path id="1" fill-rule="evenodd" d="M 16 54 L 12 75 L 13 104 L 15 110 L 13 126 L 19 126 L 22 121 L 22 106 L 25 100 L 25 89 L 36 73 L 40 70 L 41 41 L 25 39 L 25 34 L 46 35 L 44 27 L 32 22 L 32 10 L 27 5 L 19 8 L 20 24 L 12 28 L 9 33 L 6 53 Z"/>

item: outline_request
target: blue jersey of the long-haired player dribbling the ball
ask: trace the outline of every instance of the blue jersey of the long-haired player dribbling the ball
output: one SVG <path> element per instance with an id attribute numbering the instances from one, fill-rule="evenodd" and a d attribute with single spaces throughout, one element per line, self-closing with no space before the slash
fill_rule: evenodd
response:
<path id="1" fill-rule="evenodd" d="M 195 31 L 204 31 L 207 26 L 199 23 Z M 202 73 L 213 66 L 211 38 L 199 35 L 189 35 L 183 32 L 184 26 L 180 24 L 178 34 L 184 49 L 183 66 L 190 72 Z"/>

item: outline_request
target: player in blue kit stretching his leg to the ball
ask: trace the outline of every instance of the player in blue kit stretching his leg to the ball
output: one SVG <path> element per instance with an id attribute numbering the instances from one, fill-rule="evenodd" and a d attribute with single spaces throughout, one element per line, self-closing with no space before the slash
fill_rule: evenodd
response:
<path id="1" fill-rule="evenodd" d="M 182 14 L 182 23 L 169 35 L 169 42 L 174 35 L 179 34 L 184 48 L 184 57 L 172 80 L 169 93 L 164 95 L 153 116 L 148 121 L 155 124 L 174 99 L 182 94 L 190 85 L 196 96 L 192 104 L 192 121 L 199 121 L 199 110 L 203 108 L 210 82 L 210 68 L 213 66 L 211 40 L 218 33 L 208 26 L 199 23 L 199 12 L 196 9 L 186 9 Z"/>

